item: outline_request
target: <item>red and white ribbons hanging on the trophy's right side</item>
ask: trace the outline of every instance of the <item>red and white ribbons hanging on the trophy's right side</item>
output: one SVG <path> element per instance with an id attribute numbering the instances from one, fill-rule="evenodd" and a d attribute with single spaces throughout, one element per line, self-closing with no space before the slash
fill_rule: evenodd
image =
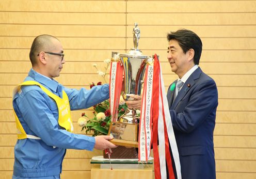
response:
<path id="1" fill-rule="evenodd" d="M 140 113 L 139 160 L 148 161 L 151 144 L 153 144 L 155 178 L 167 178 L 166 167 L 169 178 L 175 178 L 172 168 L 174 162 L 177 177 L 181 179 L 179 152 L 172 128 L 161 65 L 156 55 L 154 64 L 149 63 L 145 73 Z"/>

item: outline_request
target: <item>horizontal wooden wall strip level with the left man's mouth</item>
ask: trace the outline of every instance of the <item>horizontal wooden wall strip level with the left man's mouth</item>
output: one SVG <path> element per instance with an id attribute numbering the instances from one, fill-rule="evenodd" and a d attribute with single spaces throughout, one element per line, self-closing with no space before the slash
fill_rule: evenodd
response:
<path id="1" fill-rule="evenodd" d="M 65 56 L 66 57 L 66 56 Z M 97 72 L 97 69 L 92 66 L 92 64 L 96 63 L 97 68 L 99 70 L 104 70 L 107 66 L 106 63 L 102 62 L 69 62 L 67 59 L 67 62 L 63 65 L 63 69 L 61 70 L 62 74 L 92 74 Z M 0 64 L 0 70 L 3 71 L 3 73 L 27 73 L 29 69 L 31 68 L 30 61 L 4 61 Z M 229 68 L 227 68 L 227 65 Z M 82 68 L 76 68 L 76 66 L 82 66 Z M 83 68 L 83 66 L 86 66 L 86 68 Z M 168 62 L 162 62 L 162 73 L 163 74 L 169 74 L 171 72 L 170 65 Z M 206 74 L 255 74 L 256 69 L 256 63 L 255 62 L 201 62 L 200 67 Z M 110 66 L 109 66 L 110 68 Z M 109 69 L 106 71 L 109 73 Z"/>

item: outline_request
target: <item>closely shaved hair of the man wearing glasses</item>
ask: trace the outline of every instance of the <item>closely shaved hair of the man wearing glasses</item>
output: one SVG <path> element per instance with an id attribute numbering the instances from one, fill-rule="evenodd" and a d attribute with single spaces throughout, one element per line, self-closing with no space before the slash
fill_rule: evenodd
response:
<path id="1" fill-rule="evenodd" d="M 47 34 L 39 35 L 34 39 L 29 52 L 29 59 L 32 66 L 37 63 L 37 55 L 40 53 L 40 51 L 49 50 L 53 39 L 57 38 Z"/>

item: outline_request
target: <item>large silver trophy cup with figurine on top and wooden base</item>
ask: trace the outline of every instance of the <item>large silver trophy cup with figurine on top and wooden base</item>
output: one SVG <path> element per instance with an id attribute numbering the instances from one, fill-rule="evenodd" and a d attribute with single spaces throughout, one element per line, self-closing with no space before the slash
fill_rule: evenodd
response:
<path id="1" fill-rule="evenodd" d="M 122 92 L 124 100 L 134 100 L 130 97 L 131 94 L 140 95 L 142 93 L 144 74 L 149 56 L 142 55 L 142 52 L 138 49 L 139 38 L 140 30 L 138 24 L 135 23 L 133 28 L 134 48 L 129 53 L 119 54 L 119 59 L 124 69 Z M 113 52 L 112 56 L 115 53 Z M 138 130 L 139 117 L 136 114 L 136 110 L 127 109 L 117 122 L 111 122 L 108 133 L 114 137 L 112 142 L 116 145 L 138 147 Z"/>

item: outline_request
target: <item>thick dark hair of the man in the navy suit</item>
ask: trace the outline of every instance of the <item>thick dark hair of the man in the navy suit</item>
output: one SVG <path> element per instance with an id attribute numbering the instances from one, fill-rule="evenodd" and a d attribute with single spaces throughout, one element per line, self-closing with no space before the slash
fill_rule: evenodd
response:
<path id="1" fill-rule="evenodd" d="M 167 39 L 168 41 L 178 41 L 184 53 L 189 49 L 194 49 L 194 63 L 196 65 L 199 64 L 202 53 L 202 41 L 195 32 L 187 29 L 180 29 L 175 32 L 167 33 Z"/>

